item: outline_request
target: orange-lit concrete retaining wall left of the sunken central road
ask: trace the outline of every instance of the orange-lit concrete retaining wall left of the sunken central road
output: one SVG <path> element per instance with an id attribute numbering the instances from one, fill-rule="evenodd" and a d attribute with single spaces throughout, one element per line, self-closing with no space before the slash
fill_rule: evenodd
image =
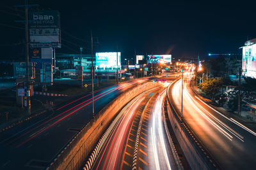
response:
<path id="1" fill-rule="evenodd" d="M 84 161 L 95 148 L 97 141 L 99 141 L 118 111 L 131 101 L 132 98 L 138 96 L 138 94 L 145 90 L 156 87 L 157 84 L 158 83 L 147 82 L 129 89 L 116 97 L 116 99 L 106 105 L 93 120 L 83 127 L 63 151 L 58 154 L 47 169 L 81 169 L 84 165 Z"/>

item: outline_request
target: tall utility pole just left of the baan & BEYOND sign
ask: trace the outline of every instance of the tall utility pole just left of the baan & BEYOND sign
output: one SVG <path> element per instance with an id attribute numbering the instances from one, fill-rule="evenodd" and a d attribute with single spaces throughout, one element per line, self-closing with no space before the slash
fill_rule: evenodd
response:
<path id="1" fill-rule="evenodd" d="M 29 83 L 29 30 L 28 30 L 28 0 L 25 0 L 25 6 L 26 6 L 26 74 L 27 74 L 27 91 L 28 91 L 28 100 L 27 100 L 27 106 L 28 106 L 28 113 L 31 115 L 31 103 L 30 103 L 30 83 Z"/>

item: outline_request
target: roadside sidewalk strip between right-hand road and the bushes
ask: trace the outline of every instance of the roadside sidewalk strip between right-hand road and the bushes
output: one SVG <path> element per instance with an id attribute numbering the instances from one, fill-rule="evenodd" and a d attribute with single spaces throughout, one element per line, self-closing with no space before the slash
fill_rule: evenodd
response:
<path id="1" fill-rule="evenodd" d="M 256 115 L 254 113 L 251 113 L 250 111 L 241 111 L 241 116 L 237 115 L 236 112 L 228 111 L 226 108 L 217 106 L 216 103 L 211 101 L 211 99 L 208 99 L 204 92 L 202 92 L 198 87 L 194 86 L 195 81 L 191 81 L 190 86 L 191 89 L 202 99 L 205 103 L 212 106 L 212 108 L 215 108 L 216 110 L 220 111 L 225 115 L 226 117 L 233 118 L 237 122 L 240 122 L 241 124 L 245 125 L 252 131 L 256 131 Z"/>

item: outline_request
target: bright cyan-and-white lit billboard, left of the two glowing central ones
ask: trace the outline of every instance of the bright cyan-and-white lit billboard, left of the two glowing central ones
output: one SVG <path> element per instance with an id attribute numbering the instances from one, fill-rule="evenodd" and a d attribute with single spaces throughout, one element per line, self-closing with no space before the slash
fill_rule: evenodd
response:
<path id="1" fill-rule="evenodd" d="M 116 56 L 116 52 L 98 52 L 96 53 L 96 66 L 99 67 L 118 67 L 121 66 L 121 53 L 118 52 Z M 116 57 L 118 58 L 118 62 L 116 63 Z"/>

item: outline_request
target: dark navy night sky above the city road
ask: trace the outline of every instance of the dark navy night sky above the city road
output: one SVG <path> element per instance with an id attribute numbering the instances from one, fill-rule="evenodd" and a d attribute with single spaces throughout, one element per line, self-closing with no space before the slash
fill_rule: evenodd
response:
<path id="1" fill-rule="evenodd" d="M 99 51 L 111 52 L 117 44 L 125 58 L 133 57 L 134 50 L 138 54 L 171 53 L 177 58 L 241 53 L 238 48 L 244 41 L 256 38 L 253 1 L 29 2 L 60 11 L 63 46 L 59 53 L 79 53 L 79 46 L 84 46 L 83 53 L 90 53 L 90 30 L 99 39 Z M 15 22 L 22 20 L 24 9 L 13 7 L 22 3 L 0 3 L 1 59 L 24 55 L 24 24 Z"/>

